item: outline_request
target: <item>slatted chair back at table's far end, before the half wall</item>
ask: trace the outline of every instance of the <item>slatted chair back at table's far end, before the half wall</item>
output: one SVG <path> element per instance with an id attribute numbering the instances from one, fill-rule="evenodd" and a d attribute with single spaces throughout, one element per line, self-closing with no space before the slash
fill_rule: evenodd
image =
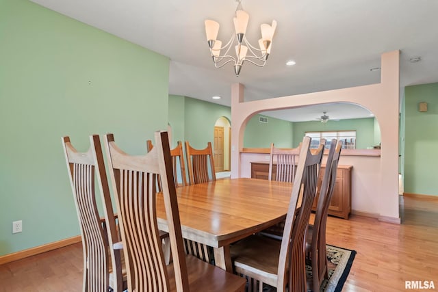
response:
<path id="1" fill-rule="evenodd" d="M 292 183 L 295 178 L 296 162 L 300 154 L 300 146 L 296 148 L 281 149 L 276 148 L 274 143 L 271 143 L 271 150 L 269 155 L 269 181 L 286 181 Z M 274 170 L 274 163 L 276 165 L 275 177 L 272 177 Z"/>

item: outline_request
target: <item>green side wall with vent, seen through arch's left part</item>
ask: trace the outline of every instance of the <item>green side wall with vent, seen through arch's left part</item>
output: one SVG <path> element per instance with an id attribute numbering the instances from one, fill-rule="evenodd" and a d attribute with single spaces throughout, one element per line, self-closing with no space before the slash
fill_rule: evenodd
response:
<path id="1" fill-rule="evenodd" d="M 268 119 L 267 123 L 259 122 L 259 117 Z M 270 148 L 271 143 L 278 148 L 292 148 L 294 129 L 292 122 L 256 114 L 246 124 L 244 147 Z"/>

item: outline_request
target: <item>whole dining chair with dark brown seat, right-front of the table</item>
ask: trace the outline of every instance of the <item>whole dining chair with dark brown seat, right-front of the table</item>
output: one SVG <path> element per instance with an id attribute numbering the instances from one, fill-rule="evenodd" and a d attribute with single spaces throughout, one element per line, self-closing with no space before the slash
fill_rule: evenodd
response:
<path id="1" fill-rule="evenodd" d="M 231 245 L 235 271 L 248 278 L 248 286 L 254 290 L 262 291 L 263 284 L 269 284 L 279 292 L 306 291 L 305 233 L 324 152 L 320 144 L 312 154 L 310 143 L 310 137 L 303 138 L 281 241 L 252 235 Z M 296 213 L 301 189 L 302 202 Z"/>

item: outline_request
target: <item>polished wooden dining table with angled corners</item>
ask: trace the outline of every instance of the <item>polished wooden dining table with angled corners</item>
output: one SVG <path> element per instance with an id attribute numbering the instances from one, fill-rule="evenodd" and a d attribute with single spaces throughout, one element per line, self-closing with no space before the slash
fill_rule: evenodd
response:
<path id="1" fill-rule="evenodd" d="M 232 271 L 230 244 L 285 219 L 292 183 L 257 178 L 224 178 L 177 187 L 181 231 L 185 239 L 214 248 L 218 267 Z M 168 231 L 162 196 L 157 221 Z"/>

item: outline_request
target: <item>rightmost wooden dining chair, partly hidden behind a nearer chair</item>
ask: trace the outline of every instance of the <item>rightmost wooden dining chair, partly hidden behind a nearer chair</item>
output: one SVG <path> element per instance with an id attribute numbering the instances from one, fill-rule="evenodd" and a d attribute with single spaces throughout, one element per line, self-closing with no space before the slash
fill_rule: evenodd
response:
<path id="1" fill-rule="evenodd" d="M 326 168 L 318 196 L 315 220 L 313 224 L 309 224 L 306 235 L 306 254 L 311 260 L 312 267 L 312 278 L 309 287 L 313 291 L 320 291 L 322 281 L 329 278 L 326 256 L 326 222 L 330 200 L 335 189 L 337 163 L 341 155 L 341 149 L 342 141 L 331 140 L 329 156 L 327 157 Z"/>

